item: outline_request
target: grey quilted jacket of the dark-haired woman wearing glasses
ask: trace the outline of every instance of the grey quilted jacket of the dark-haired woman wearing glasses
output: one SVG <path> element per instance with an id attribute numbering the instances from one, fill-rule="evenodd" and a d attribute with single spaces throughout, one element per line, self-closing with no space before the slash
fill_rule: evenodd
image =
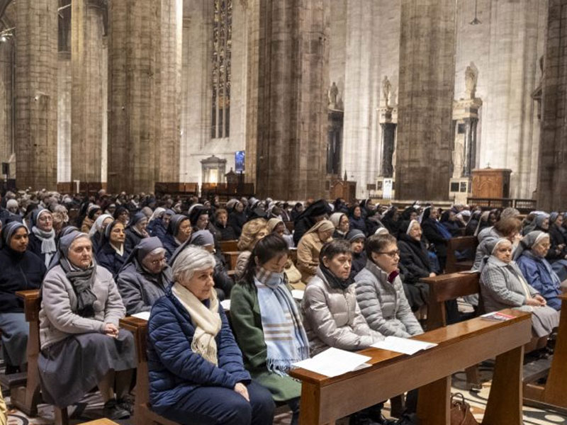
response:
<path id="1" fill-rule="evenodd" d="M 423 333 L 405 297 L 400 276 L 389 283 L 388 274 L 368 260 L 354 280 L 357 302 L 371 329 L 385 336 L 401 338 Z"/>

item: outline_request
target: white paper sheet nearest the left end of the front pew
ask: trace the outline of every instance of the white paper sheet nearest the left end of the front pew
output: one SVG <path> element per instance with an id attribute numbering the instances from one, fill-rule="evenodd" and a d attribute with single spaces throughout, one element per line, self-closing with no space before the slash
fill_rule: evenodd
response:
<path id="1" fill-rule="evenodd" d="M 338 348 L 327 348 L 317 356 L 307 360 L 293 363 L 297 368 L 311 370 L 329 377 L 339 376 L 343 373 L 352 372 L 369 366 L 366 362 L 371 357 L 361 354 L 351 353 L 350 351 L 339 350 Z"/>

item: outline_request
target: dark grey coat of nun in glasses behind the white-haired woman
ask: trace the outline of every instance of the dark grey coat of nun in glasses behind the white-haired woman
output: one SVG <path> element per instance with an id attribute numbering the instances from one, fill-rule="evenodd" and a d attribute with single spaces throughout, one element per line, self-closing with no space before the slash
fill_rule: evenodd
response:
<path id="1" fill-rule="evenodd" d="M 169 266 L 159 275 L 153 275 L 145 271 L 136 259 L 128 263 L 116 278 L 126 314 L 131 316 L 152 310 L 152 305 L 165 295 L 172 280 L 172 268 Z"/>

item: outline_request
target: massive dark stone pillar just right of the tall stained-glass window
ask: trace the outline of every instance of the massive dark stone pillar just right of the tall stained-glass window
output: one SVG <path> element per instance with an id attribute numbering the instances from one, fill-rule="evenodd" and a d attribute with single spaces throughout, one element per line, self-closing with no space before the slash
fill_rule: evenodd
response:
<path id="1" fill-rule="evenodd" d="M 330 0 L 260 2 L 257 193 L 325 193 Z"/>

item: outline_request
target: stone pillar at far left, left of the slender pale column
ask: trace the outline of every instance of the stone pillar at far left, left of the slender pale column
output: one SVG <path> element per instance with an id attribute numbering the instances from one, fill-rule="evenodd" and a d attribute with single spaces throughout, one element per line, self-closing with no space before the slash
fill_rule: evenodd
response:
<path id="1" fill-rule="evenodd" d="M 16 3 L 16 185 L 57 188 L 57 0 Z"/>

